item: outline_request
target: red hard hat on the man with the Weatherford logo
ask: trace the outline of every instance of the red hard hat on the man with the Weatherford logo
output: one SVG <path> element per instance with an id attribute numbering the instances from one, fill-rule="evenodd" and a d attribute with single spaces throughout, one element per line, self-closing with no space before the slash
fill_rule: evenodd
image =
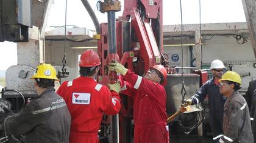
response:
<path id="1" fill-rule="evenodd" d="M 96 67 L 101 64 L 101 59 L 94 50 L 86 50 L 80 56 L 79 66 L 80 67 Z"/>

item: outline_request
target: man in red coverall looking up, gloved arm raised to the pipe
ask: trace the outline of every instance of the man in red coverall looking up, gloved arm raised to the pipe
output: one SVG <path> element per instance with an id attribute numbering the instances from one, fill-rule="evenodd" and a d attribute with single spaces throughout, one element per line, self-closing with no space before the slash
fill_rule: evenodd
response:
<path id="1" fill-rule="evenodd" d="M 121 93 L 134 99 L 134 143 L 169 142 L 169 131 L 166 126 L 166 76 L 163 65 L 150 67 L 144 78 L 112 61 L 108 70 L 123 75 L 124 86 Z"/>

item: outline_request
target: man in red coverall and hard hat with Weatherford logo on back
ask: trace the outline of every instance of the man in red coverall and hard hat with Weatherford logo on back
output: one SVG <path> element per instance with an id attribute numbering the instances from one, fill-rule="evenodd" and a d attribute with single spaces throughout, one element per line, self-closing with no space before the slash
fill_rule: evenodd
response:
<path id="1" fill-rule="evenodd" d="M 109 84 L 109 90 L 95 81 L 100 64 L 98 54 L 86 50 L 80 56 L 80 77 L 63 82 L 57 91 L 71 114 L 70 143 L 98 143 L 102 116 L 115 115 L 120 110 L 120 84 Z"/>

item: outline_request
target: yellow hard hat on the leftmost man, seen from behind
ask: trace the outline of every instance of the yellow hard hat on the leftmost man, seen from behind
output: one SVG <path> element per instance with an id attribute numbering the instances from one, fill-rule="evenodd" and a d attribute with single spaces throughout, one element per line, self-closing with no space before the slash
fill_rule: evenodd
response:
<path id="1" fill-rule="evenodd" d="M 35 71 L 35 75 L 31 77 L 31 79 L 35 78 L 54 79 L 59 81 L 56 76 L 56 70 L 51 64 L 39 64 Z"/>

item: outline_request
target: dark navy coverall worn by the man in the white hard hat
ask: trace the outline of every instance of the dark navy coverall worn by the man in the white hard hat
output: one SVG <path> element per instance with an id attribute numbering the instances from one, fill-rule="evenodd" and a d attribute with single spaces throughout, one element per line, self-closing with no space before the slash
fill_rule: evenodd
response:
<path id="1" fill-rule="evenodd" d="M 223 135 L 223 109 L 227 98 L 219 93 L 219 87 L 215 84 L 214 78 L 205 82 L 197 93 L 191 97 L 192 105 L 203 102 L 206 96 L 208 97 L 209 121 L 213 132 L 213 140 L 217 142 Z"/>

